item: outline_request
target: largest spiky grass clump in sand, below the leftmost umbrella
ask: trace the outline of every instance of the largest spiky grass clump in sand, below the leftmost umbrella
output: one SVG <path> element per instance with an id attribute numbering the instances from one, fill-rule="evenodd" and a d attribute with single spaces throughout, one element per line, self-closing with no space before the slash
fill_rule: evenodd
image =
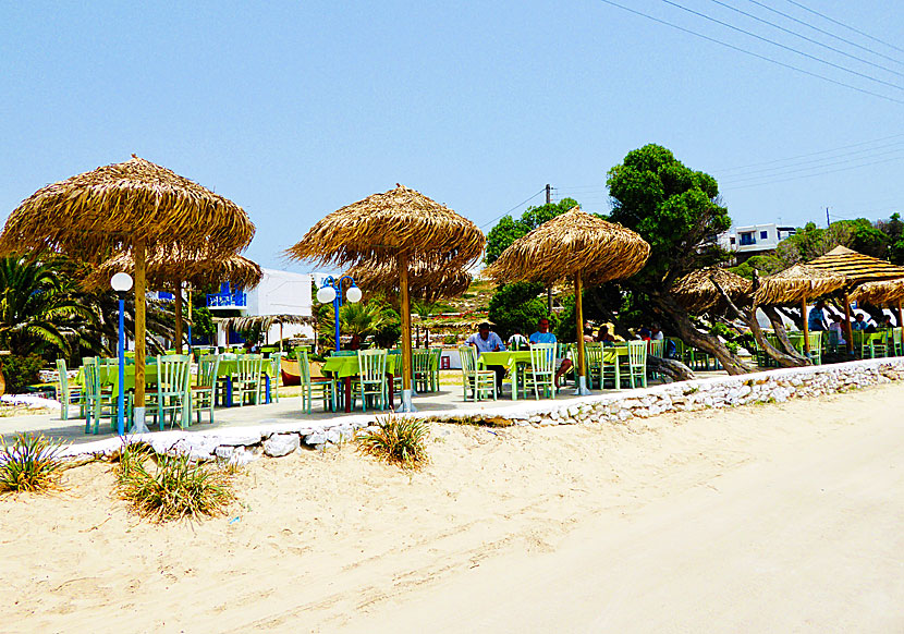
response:
<path id="1" fill-rule="evenodd" d="M 232 472 L 134 444 L 120 453 L 117 490 L 136 513 L 157 522 L 220 515 L 235 499 Z"/>

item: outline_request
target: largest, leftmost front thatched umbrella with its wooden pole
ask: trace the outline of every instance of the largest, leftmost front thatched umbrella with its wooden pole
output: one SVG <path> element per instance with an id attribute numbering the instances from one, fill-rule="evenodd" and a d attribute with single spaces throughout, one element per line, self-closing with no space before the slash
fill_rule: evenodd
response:
<path id="1" fill-rule="evenodd" d="M 235 203 L 163 167 L 132 159 L 41 187 L 7 219 L 0 252 L 49 249 L 97 264 L 135 261 L 135 419 L 145 412 L 146 252 L 223 255 L 245 248 L 254 224 Z"/>

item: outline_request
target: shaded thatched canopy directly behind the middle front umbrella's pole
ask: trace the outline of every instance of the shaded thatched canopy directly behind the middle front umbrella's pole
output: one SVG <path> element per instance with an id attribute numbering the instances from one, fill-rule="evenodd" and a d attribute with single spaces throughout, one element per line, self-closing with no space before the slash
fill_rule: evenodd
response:
<path id="1" fill-rule="evenodd" d="M 363 290 L 371 293 L 399 292 L 399 265 L 384 259 L 380 263 L 362 263 L 345 271 Z M 410 264 L 408 293 L 426 302 L 457 297 L 471 285 L 471 273 L 436 264 L 415 261 Z"/>

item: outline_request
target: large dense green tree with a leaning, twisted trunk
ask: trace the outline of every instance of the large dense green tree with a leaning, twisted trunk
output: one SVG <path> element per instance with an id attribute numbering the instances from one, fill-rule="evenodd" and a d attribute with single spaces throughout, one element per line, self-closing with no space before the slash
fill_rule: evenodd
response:
<path id="1" fill-rule="evenodd" d="M 630 151 L 609 171 L 607 183 L 612 197 L 610 219 L 650 244 L 647 265 L 623 285 L 635 296 L 648 297 L 667 328 L 713 354 L 729 373 L 748 371 L 718 338 L 697 329 L 669 293 L 681 276 L 729 258 L 716 241 L 716 235 L 731 227 L 716 179 L 651 144 Z"/>

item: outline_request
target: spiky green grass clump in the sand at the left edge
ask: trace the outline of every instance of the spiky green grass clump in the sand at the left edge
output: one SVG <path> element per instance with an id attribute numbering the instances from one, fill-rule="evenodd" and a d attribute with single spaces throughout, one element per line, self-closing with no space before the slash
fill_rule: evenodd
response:
<path id="1" fill-rule="evenodd" d="M 63 449 L 44 435 L 19 434 L 12 444 L 0 436 L 0 492 L 56 488 L 63 468 Z"/>

